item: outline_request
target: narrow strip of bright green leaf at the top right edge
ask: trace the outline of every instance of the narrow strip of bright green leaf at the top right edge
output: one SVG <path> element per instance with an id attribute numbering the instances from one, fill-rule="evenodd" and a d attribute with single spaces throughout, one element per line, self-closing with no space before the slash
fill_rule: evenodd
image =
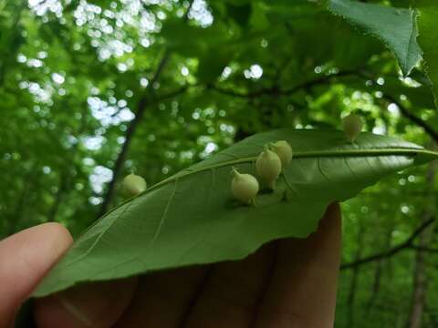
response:
<path id="1" fill-rule="evenodd" d="M 427 76 L 432 82 L 435 107 L 438 108 L 438 3 L 433 0 L 417 0 L 418 42 L 422 47 L 422 56 Z"/>

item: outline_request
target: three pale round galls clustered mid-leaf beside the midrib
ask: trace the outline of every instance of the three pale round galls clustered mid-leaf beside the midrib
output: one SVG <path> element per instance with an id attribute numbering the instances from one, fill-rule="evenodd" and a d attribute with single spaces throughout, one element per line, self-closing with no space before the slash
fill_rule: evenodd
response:
<path id="1" fill-rule="evenodd" d="M 266 187 L 275 190 L 276 179 L 292 160 L 292 148 L 286 140 L 269 143 L 255 161 L 257 176 Z M 231 192 L 236 200 L 245 204 L 254 204 L 255 196 L 260 189 L 257 179 L 251 174 L 241 174 L 233 168 Z"/>

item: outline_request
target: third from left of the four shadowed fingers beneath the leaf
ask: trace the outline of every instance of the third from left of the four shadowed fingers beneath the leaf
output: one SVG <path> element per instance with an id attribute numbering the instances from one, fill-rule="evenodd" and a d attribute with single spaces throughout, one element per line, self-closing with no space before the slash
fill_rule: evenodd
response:
<path id="1" fill-rule="evenodd" d="M 272 270 L 275 246 L 266 244 L 243 261 L 216 264 L 186 327 L 249 327 Z"/>

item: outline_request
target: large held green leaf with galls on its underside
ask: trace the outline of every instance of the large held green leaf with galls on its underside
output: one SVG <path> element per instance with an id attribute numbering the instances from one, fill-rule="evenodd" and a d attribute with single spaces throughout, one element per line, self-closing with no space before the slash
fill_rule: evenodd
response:
<path id="1" fill-rule="evenodd" d="M 254 173 L 259 152 L 278 139 L 292 145 L 295 158 L 276 191 L 258 195 L 255 207 L 232 200 L 232 167 Z M 242 259 L 267 241 L 305 238 L 331 202 L 437 157 L 410 142 L 365 132 L 355 144 L 336 130 L 257 134 L 110 211 L 82 234 L 34 295 L 78 282 Z"/>

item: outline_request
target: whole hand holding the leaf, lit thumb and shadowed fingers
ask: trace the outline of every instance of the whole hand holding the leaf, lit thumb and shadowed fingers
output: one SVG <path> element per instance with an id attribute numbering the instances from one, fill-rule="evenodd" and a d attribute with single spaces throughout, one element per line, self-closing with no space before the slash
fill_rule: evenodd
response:
<path id="1" fill-rule="evenodd" d="M 225 261 L 111 282 L 38 299 L 38 327 L 329 328 L 340 264 L 339 204 L 307 239 L 271 241 L 242 261 Z M 0 328 L 72 240 L 56 223 L 0 241 Z"/>

